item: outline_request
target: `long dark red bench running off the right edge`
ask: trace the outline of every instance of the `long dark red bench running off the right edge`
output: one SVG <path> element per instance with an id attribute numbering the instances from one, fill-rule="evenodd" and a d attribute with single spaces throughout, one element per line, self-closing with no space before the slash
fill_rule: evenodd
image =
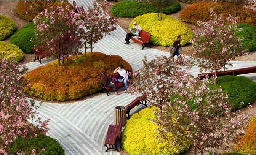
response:
<path id="1" fill-rule="evenodd" d="M 219 71 L 216 73 L 216 76 L 224 76 L 224 75 L 242 75 L 242 74 L 249 74 L 249 73 L 256 73 L 256 66 L 254 67 L 246 67 L 246 68 L 239 68 L 236 70 L 227 70 L 227 71 Z M 200 79 L 204 79 L 206 75 L 208 75 L 209 78 L 211 78 L 215 73 L 203 73 L 203 74 L 198 74 Z"/>

